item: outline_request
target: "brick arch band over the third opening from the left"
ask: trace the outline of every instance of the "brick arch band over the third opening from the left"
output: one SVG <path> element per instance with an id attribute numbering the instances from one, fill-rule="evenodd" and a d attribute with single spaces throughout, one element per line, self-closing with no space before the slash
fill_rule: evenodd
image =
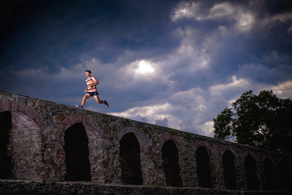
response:
<path id="1" fill-rule="evenodd" d="M 139 141 L 140 147 L 144 147 L 147 145 L 151 146 L 151 143 L 149 142 L 149 138 L 145 135 L 144 132 L 139 130 L 137 127 L 133 127 L 133 126 L 125 127 L 123 130 L 119 132 L 118 139 L 121 140 L 126 133 L 134 133 Z"/>

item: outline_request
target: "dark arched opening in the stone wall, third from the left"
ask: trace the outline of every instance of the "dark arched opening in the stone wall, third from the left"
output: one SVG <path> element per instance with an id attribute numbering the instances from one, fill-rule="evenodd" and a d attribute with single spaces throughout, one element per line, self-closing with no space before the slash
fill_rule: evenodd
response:
<path id="1" fill-rule="evenodd" d="M 126 133 L 120 140 L 121 180 L 123 184 L 142 185 L 140 144 L 134 133 Z"/>

